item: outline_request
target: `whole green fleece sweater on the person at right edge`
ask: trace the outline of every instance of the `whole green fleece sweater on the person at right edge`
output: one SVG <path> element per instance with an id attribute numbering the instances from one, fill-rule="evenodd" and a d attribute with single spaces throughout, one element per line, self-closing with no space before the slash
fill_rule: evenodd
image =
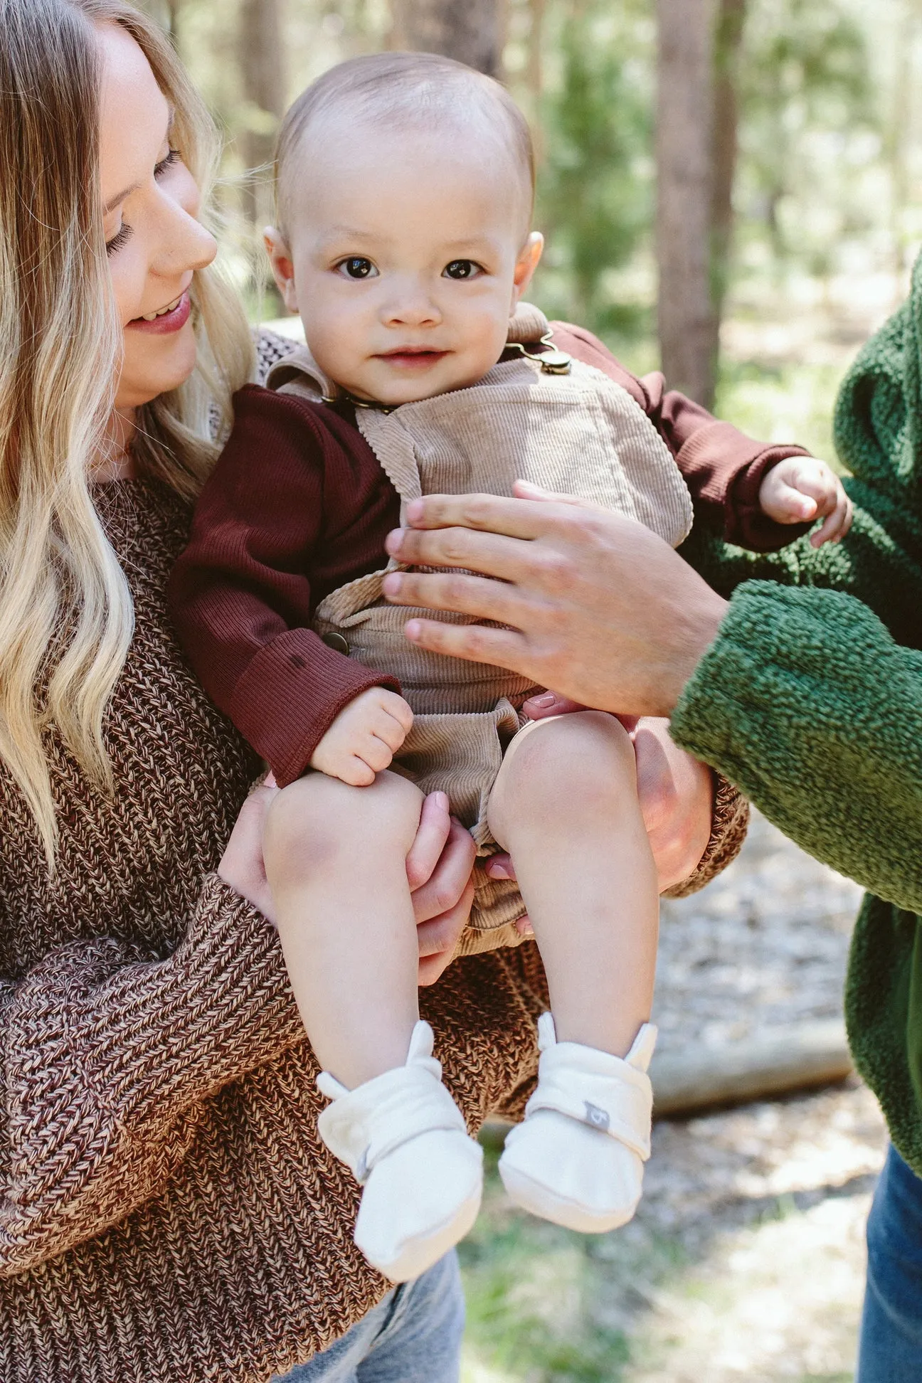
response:
<path id="1" fill-rule="evenodd" d="M 922 1176 L 922 260 L 836 407 L 856 516 L 840 545 L 758 556 L 698 527 L 683 556 L 724 595 L 675 739 L 811 855 L 871 892 L 846 1021 L 856 1065 Z"/>

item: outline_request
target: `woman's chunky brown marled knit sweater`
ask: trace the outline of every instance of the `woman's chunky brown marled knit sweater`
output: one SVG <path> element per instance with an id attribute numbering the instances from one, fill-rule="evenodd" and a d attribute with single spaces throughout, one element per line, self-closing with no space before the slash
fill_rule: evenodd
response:
<path id="1" fill-rule="evenodd" d="M 48 739 L 48 881 L 0 769 L 1 1383 L 257 1383 L 386 1290 L 317 1135 L 315 1064 L 271 925 L 213 873 L 257 763 L 185 668 L 164 586 L 189 512 L 101 492 L 137 626 L 108 716 L 113 799 Z M 535 1062 L 534 946 L 423 993 L 471 1127 Z"/>

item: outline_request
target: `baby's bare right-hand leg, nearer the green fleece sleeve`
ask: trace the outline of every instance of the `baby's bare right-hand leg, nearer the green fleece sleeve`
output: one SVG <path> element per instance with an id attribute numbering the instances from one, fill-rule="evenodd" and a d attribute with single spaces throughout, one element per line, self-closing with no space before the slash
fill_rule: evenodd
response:
<path id="1" fill-rule="evenodd" d="M 623 1057 L 650 1018 L 659 898 L 633 745 L 600 711 L 513 741 L 488 820 L 535 928 L 558 1041 Z"/>

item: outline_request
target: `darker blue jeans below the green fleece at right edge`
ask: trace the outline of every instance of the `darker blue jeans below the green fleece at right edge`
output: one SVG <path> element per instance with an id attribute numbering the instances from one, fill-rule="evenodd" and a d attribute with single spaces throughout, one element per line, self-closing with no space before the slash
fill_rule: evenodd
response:
<path id="1" fill-rule="evenodd" d="M 922 1180 L 890 1148 L 868 1217 L 868 1286 L 854 1383 L 922 1379 Z"/>

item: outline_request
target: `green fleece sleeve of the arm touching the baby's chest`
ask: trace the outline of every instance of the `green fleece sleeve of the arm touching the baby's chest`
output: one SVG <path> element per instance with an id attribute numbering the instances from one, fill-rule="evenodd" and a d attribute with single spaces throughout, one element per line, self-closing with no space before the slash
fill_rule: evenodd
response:
<path id="1" fill-rule="evenodd" d="M 922 653 L 854 596 L 740 586 L 672 733 L 811 855 L 922 913 Z"/>

